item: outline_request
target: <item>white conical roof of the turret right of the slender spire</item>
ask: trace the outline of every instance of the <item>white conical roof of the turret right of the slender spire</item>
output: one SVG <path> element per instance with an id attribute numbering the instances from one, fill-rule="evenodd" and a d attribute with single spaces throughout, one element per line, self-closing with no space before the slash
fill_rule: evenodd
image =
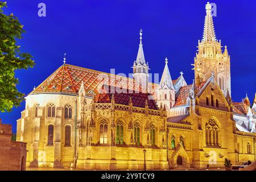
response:
<path id="1" fill-rule="evenodd" d="M 167 86 L 168 89 L 174 89 L 174 84 L 172 84 L 172 78 L 171 78 L 171 74 L 170 74 L 170 71 L 169 71 L 169 68 L 168 68 L 168 59 L 167 59 L 167 57 L 165 59 L 165 62 L 166 62 L 166 65 L 164 66 L 164 71 L 163 71 L 163 75 L 162 75 L 162 78 L 161 78 L 161 81 L 160 81 L 159 88 L 163 89 L 163 88 L 166 88 L 166 86 Z"/>

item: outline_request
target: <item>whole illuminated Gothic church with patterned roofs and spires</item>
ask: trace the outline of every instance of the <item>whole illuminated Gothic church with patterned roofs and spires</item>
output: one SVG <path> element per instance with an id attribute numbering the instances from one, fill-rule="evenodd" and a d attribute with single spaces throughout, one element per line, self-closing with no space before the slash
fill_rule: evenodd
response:
<path id="1" fill-rule="evenodd" d="M 188 85 L 165 59 L 159 84 L 148 81 L 142 31 L 133 78 L 65 63 L 26 97 L 16 139 L 27 167 L 175 169 L 255 161 L 256 94 L 232 100 L 230 55 L 216 39 L 207 3 Z M 129 65 L 127 65 L 129 66 Z M 192 79 L 191 79 L 192 80 Z M 190 81 L 190 80 L 189 80 Z"/>

